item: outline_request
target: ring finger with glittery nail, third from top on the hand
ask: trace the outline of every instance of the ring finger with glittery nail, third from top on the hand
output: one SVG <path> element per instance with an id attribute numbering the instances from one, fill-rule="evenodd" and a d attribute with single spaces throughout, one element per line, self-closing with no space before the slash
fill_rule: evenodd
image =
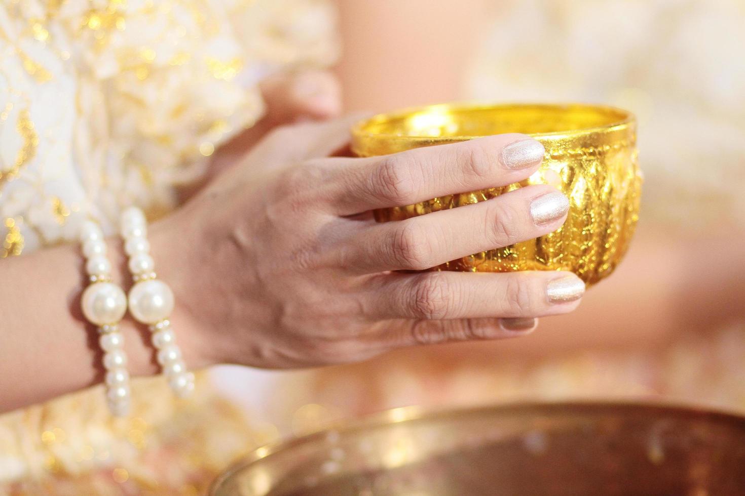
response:
<path id="1" fill-rule="evenodd" d="M 370 318 L 434 321 L 559 315 L 577 308 L 585 291 L 579 277 L 564 271 L 396 273 L 370 286 Z"/>

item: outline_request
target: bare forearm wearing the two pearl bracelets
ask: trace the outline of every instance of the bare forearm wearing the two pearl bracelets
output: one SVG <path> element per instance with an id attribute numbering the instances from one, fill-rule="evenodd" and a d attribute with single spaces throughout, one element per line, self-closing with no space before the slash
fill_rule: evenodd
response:
<path id="1" fill-rule="evenodd" d="M 127 291 L 131 283 L 121 242 L 110 239 L 107 244 L 113 280 Z M 153 242 L 153 250 L 162 251 L 161 245 Z M 153 257 L 157 260 L 163 254 L 153 253 Z M 80 311 L 80 295 L 87 284 L 83 263 L 77 245 L 0 262 L 0 280 L 4 282 L 0 285 L 0 411 L 42 402 L 103 380 L 98 330 Z M 178 316 L 172 320 L 177 324 Z M 148 329 L 128 315 L 120 328 L 130 374 L 156 373 Z"/>

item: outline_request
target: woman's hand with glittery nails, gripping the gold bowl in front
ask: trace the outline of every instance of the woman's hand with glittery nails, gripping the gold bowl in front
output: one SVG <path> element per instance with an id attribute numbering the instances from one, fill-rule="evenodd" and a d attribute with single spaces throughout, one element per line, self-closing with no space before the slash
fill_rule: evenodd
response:
<path id="1" fill-rule="evenodd" d="M 584 285 L 567 272 L 396 272 L 555 231 L 568 201 L 553 187 L 400 222 L 369 214 L 527 178 L 543 157 L 537 141 L 510 134 L 332 156 L 353 121 L 277 129 L 153 225 L 153 254 L 176 294 L 172 320 L 192 366 L 305 367 L 504 338 L 579 304 Z"/>

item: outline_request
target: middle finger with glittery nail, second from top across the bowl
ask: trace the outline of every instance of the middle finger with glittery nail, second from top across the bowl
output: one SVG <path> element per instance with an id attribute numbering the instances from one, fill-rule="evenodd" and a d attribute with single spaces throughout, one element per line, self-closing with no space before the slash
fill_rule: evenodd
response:
<path id="1" fill-rule="evenodd" d="M 341 265 L 356 273 L 424 270 L 556 231 L 569 200 L 538 184 L 459 208 L 350 231 Z"/>

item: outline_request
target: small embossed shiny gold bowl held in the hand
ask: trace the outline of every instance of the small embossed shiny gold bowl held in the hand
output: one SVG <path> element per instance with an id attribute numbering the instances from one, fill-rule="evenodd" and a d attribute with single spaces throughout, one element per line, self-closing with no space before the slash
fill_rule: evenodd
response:
<path id="1" fill-rule="evenodd" d="M 630 112 L 590 105 L 434 105 L 377 115 L 352 128 L 352 152 L 387 155 L 418 146 L 521 132 L 545 146 L 537 173 L 518 184 L 440 196 L 377 210 L 380 222 L 483 202 L 527 184 L 554 184 L 570 201 L 558 231 L 482 251 L 434 270 L 567 270 L 588 285 L 607 277 L 627 251 L 638 219 L 641 174 Z"/>

